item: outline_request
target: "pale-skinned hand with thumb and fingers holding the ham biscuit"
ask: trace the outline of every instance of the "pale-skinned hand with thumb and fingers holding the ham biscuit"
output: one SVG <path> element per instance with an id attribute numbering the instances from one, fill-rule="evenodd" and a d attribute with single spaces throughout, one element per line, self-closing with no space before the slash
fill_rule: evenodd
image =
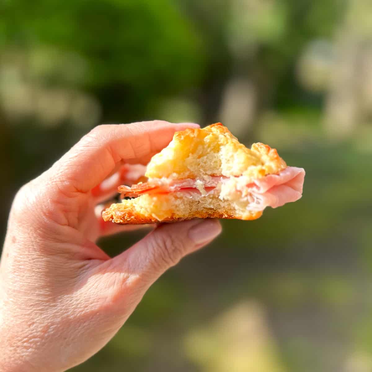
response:
<path id="1" fill-rule="evenodd" d="M 134 228 L 102 222 L 96 206 L 118 185 L 99 185 L 122 164 L 146 164 L 188 127 L 198 125 L 98 126 L 19 190 L 0 262 L 0 371 L 57 372 L 84 362 L 160 275 L 221 232 L 216 220 L 161 224 L 116 257 L 95 243 Z"/>

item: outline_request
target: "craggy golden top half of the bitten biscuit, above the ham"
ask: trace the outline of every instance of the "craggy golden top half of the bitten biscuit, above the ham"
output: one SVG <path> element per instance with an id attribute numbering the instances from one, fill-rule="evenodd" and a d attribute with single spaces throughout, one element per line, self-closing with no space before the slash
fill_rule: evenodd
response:
<path id="1" fill-rule="evenodd" d="M 221 123 L 205 128 L 188 128 L 153 156 L 147 166 L 148 178 L 170 179 L 203 176 L 263 177 L 286 167 L 275 149 L 257 143 L 249 149 Z"/>

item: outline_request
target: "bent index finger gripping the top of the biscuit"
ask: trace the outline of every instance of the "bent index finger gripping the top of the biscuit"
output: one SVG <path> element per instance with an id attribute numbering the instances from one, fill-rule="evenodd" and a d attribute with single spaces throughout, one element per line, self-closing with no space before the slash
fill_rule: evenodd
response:
<path id="1" fill-rule="evenodd" d="M 99 125 L 58 160 L 49 175 L 62 192 L 88 192 L 102 182 L 115 165 L 146 164 L 166 147 L 176 131 L 198 124 L 148 121 L 134 124 Z"/>

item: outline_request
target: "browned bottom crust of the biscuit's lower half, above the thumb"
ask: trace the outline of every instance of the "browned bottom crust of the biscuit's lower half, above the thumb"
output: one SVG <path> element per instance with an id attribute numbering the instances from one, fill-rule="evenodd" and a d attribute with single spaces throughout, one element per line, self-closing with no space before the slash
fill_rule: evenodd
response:
<path id="1" fill-rule="evenodd" d="M 257 219 L 262 216 L 262 211 L 252 212 L 248 216 L 234 215 L 221 211 L 195 211 L 192 214 L 185 215 L 184 217 L 176 217 L 174 215 L 166 217 L 159 221 L 157 218 L 151 215 L 141 214 L 135 207 L 128 208 L 123 203 L 112 204 L 109 208 L 105 209 L 102 212 L 102 217 L 105 221 L 112 221 L 116 224 L 153 224 L 157 222 L 175 222 L 175 221 L 184 221 L 186 219 L 192 218 L 219 218 L 219 219 L 244 219 L 252 220 Z"/>

